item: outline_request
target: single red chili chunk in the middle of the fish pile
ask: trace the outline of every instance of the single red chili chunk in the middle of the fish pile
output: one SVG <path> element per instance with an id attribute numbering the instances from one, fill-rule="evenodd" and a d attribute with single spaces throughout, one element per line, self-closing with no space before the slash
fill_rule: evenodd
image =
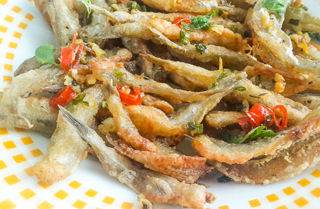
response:
<path id="1" fill-rule="evenodd" d="M 126 105 L 141 104 L 140 90 L 138 88 L 129 88 L 126 86 L 116 87 L 119 92 L 120 100 Z M 129 91 L 130 90 L 130 91 Z"/>

